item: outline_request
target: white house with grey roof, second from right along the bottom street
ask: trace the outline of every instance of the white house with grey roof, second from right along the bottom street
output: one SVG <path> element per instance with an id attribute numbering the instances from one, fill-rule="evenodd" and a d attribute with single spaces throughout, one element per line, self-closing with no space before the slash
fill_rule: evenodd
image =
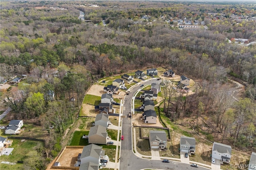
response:
<path id="1" fill-rule="evenodd" d="M 212 158 L 220 160 L 221 164 L 230 163 L 231 158 L 231 147 L 222 143 L 213 143 L 212 147 Z"/>

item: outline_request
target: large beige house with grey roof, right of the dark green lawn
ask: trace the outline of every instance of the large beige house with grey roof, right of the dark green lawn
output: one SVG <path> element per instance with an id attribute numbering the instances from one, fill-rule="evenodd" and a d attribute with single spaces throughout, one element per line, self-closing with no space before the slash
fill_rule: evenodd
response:
<path id="1" fill-rule="evenodd" d="M 90 128 L 88 134 L 88 142 L 95 144 L 106 144 L 108 133 L 106 132 L 106 127 L 102 125 L 96 125 Z"/>

